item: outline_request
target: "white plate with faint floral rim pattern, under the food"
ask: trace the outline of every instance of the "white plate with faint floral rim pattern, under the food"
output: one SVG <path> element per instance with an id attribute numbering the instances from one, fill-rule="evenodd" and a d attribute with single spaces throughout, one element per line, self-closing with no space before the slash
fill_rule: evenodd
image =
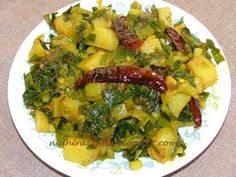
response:
<path id="1" fill-rule="evenodd" d="M 105 5 L 112 3 L 113 8 L 118 13 L 127 12 L 131 2 L 132 0 L 104 0 Z M 152 4 L 155 4 L 157 7 L 170 7 L 174 19 L 184 17 L 185 23 L 192 33 L 197 35 L 201 40 L 207 38 L 213 39 L 216 46 L 220 48 L 218 42 L 206 27 L 187 12 L 160 0 L 139 0 L 139 2 L 143 4 L 144 8 L 148 8 Z M 86 3 L 86 0 L 82 0 L 80 3 L 83 8 L 87 9 L 96 6 L 95 0 L 89 3 Z M 60 12 L 66 10 L 68 7 L 61 9 Z M 168 162 L 164 165 L 150 158 L 143 158 L 144 167 L 138 171 L 129 170 L 127 160 L 123 159 L 121 154 L 116 154 L 114 160 L 96 161 L 87 167 L 65 161 L 62 150 L 53 146 L 52 143 L 50 145 L 50 142 L 54 141 L 54 135 L 36 132 L 34 120 L 29 115 L 29 111 L 26 110 L 22 99 L 25 89 L 23 74 L 29 71 L 30 66 L 27 63 L 27 58 L 32 42 L 39 34 L 48 33 L 48 31 L 47 24 L 41 22 L 29 34 L 18 50 L 9 76 L 8 101 L 13 122 L 24 142 L 42 161 L 56 170 L 69 176 L 163 176 L 183 167 L 201 154 L 221 129 L 226 118 L 231 95 L 230 73 L 226 61 L 217 66 L 219 80 L 214 87 L 209 88 L 211 96 L 207 100 L 206 109 L 202 111 L 202 127 L 198 130 L 194 130 L 192 127 L 179 130 L 187 144 L 186 155 L 184 157 L 176 158 L 173 162 Z"/>

